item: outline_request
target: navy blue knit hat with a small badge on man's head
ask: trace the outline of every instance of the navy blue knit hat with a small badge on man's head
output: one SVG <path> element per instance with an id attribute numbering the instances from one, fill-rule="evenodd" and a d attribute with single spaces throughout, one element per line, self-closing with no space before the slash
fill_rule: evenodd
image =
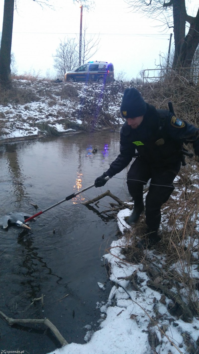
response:
<path id="1" fill-rule="evenodd" d="M 146 102 L 140 92 L 131 87 L 124 91 L 120 110 L 124 118 L 140 117 L 146 113 Z"/>

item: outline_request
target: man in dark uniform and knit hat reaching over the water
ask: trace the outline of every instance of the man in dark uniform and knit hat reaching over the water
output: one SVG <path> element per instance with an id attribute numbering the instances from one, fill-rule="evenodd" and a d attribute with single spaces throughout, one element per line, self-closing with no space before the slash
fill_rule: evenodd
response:
<path id="1" fill-rule="evenodd" d="M 113 177 L 127 167 L 137 150 L 139 156 L 127 174 L 128 190 L 134 200 L 128 223 L 135 223 L 144 211 L 143 185 L 151 178 L 145 202 L 147 240 L 140 241 L 139 246 L 152 246 L 160 240 L 160 209 L 174 190 L 172 182 L 183 161 L 183 143 L 191 142 L 195 155 L 199 155 L 199 129 L 176 118 L 171 110 L 149 105 L 135 88 L 124 91 L 121 113 L 126 122 L 120 133 L 120 154 L 96 178 L 95 187 L 102 187 L 106 176 Z"/>

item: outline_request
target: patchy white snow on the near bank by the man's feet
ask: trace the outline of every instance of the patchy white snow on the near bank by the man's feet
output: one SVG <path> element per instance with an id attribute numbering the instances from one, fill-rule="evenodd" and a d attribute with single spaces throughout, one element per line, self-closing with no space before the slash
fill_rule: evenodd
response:
<path id="1" fill-rule="evenodd" d="M 132 204 L 132 203 L 129 203 Z M 124 209 L 117 214 L 118 227 L 122 233 L 130 228 L 125 217 L 130 210 Z M 189 244 L 190 240 L 186 241 Z M 153 290 L 147 285 L 149 276 L 143 264 L 125 261 L 123 247 L 129 244 L 125 235 L 113 241 L 109 253 L 104 255 L 105 263 L 110 266 L 110 280 L 114 284 L 107 302 L 97 303 L 101 310 L 99 330 L 87 332 L 85 344 L 70 343 L 51 354 L 177 354 L 198 353 L 199 318 L 189 322 L 168 310 L 170 299 L 163 292 Z M 194 241 L 198 248 L 198 241 Z M 198 262 L 198 252 L 195 253 Z M 152 259 L 159 269 L 165 263 L 165 256 L 157 250 L 145 251 L 145 258 Z M 193 277 L 199 278 L 199 268 L 193 265 Z M 182 263 L 171 265 L 170 270 L 182 272 Z M 136 284 L 131 276 L 136 274 Z M 129 278 L 127 278 L 129 277 Z M 123 279 L 127 278 L 127 279 Z M 156 279 L 160 282 L 159 279 Z M 137 285 L 139 284 L 139 285 Z M 98 282 L 101 291 L 104 284 Z M 176 291 L 176 289 L 171 289 Z M 183 296 L 183 291 L 181 293 Z M 199 295 L 199 292 L 196 292 Z M 187 301 L 186 294 L 184 301 Z M 67 325 L 67 324 L 66 324 Z"/>

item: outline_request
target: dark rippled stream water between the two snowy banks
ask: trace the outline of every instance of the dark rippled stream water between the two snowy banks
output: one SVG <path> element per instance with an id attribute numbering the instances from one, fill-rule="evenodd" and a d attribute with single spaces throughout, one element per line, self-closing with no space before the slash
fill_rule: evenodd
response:
<path id="1" fill-rule="evenodd" d="M 97 153 L 91 148 L 97 147 Z M 0 216 L 44 210 L 94 183 L 119 152 L 119 133 L 101 132 L 18 142 L 0 148 Z M 121 172 L 117 177 L 123 178 Z M 48 318 L 69 342 L 99 326 L 96 302 L 106 301 L 110 284 L 101 256 L 116 239 L 114 218 L 101 214 L 110 198 L 87 208 L 81 202 L 110 189 L 129 198 L 123 179 L 91 188 L 31 222 L 31 233 L 0 229 L 0 310 L 12 318 Z M 37 204 L 36 211 L 30 202 Z M 106 290 L 97 282 L 105 283 Z M 34 298 L 44 296 L 44 306 Z M 67 296 L 66 296 L 67 295 Z M 9 327 L 0 319 L 3 350 L 44 354 L 60 347 L 41 325 Z"/>

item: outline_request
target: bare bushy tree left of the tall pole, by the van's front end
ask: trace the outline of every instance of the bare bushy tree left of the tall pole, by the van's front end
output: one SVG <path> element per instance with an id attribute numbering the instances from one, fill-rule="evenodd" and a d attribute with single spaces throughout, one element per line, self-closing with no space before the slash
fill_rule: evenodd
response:
<path id="1" fill-rule="evenodd" d="M 65 38 L 63 42 L 60 41 L 53 58 L 53 66 L 62 77 L 64 77 L 66 72 L 74 70 L 78 66 L 79 59 L 75 38 Z"/>

